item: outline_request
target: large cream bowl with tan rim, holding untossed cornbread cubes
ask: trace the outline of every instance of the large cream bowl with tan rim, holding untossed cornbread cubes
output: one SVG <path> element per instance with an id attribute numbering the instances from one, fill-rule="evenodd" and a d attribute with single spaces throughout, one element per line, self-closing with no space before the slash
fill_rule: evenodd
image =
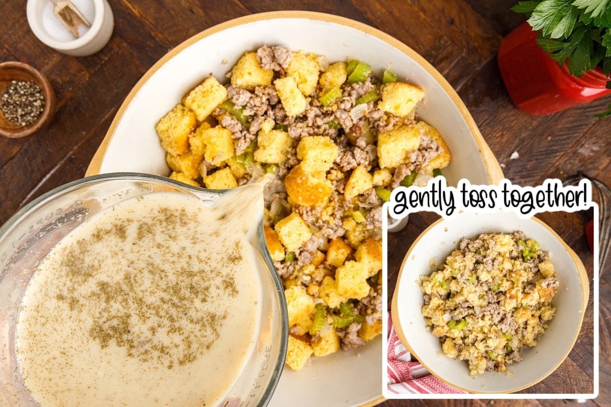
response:
<path id="1" fill-rule="evenodd" d="M 211 27 L 159 60 L 136 84 L 93 157 L 87 175 L 136 171 L 167 175 L 155 124 L 210 74 L 223 81 L 245 52 L 266 45 L 324 54 L 330 62 L 353 57 L 381 73 L 422 87 L 417 115 L 439 129 L 453 154 L 448 184 L 461 178 L 490 184 L 503 178 L 497 160 L 452 86 L 430 63 L 390 35 L 346 18 L 312 12 L 245 16 Z M 381 402 L 381 339 L 350 352 L 315 358 L 301 372 L 285 369 L 271 406 L 357 406 Z"/>

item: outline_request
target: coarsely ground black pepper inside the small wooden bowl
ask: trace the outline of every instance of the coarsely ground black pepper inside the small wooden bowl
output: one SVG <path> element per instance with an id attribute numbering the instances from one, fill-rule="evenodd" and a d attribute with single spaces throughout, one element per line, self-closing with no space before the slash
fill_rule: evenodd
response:
<path id="1" fill-rule="evenodd" d="M 44 109 L 45 95 L 35 82 L 11 81 L 0 98 L 2 114 L 18 126 L 34 123 Z"/>

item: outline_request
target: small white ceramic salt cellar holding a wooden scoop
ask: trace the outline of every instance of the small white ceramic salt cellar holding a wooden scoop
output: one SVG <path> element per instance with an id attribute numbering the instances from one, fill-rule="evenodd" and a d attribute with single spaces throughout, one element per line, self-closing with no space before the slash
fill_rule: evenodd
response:
<path id="1" fill-rule="evenodd" d="M 45 45 L 64 54 L 84 57 L 95 54 L 108 43 L 114 28 L 114 16 L 107 0 L 72 0 L 89 20 L 90 27 L 80 26 L 75 38 L 53 14 L 49 0 L 27 0 L 27 23 Z"/>

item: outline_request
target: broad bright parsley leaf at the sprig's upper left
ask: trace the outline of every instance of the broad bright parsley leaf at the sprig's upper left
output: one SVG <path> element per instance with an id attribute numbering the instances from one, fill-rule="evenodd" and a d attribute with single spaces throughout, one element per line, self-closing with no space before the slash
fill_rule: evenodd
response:
<path id="1" fill-rule="evenodd" d="M 541 31 L 545 37 L 568 37 L 577 20 L 576 9 L 572 7 L 572 1 L 545 0 L 540 2 L 528 20 L 530 26 L 536 31 Z"/>

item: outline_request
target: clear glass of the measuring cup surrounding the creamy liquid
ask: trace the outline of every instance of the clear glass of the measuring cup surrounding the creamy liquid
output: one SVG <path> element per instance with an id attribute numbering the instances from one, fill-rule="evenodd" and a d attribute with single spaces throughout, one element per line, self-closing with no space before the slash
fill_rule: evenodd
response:
<path id="1" fill-rule="evenodd" d="M 0 228 L 0 344 L 3 350 L 0 406 L 39 406 L 24 385 L 15 348 L 21 300 L 38 262 L 71 230 L 98 212 L 124 200 L 156 192 L 184 193 L 211 205 L 224 193 L 155 175 L 97 175 L 40 196 Z M 251 243 L 265 266 L 260 271 L 262 315 L 254 351 L 220 403 L 222 406 L 265 406 L 279 380 L 287 351 L 284 290 L 266 248 L 262 223 Z"/>

